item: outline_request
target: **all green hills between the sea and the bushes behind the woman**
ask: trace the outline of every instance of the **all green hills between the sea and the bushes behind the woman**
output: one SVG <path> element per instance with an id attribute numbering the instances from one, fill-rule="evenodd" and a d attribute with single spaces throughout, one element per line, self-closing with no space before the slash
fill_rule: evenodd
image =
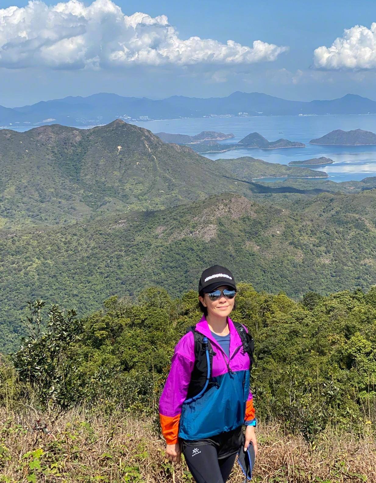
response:
<path id="1" fill-rule="evenodd" d="M 211 161 L 123 121 L 0 130 L 0 166 L 0 348 L 30 299 L 89 313 L 153 284 L 178 296 L 213 263 L 295 298 L 376 280 L 375 178 L 255 183 L 326 173 Z"/>

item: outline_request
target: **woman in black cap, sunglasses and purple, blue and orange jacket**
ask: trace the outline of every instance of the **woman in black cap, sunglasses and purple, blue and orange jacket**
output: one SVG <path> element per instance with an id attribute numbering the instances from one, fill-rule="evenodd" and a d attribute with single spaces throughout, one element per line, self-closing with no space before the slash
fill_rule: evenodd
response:
<path id="1" fill-rule="evenodd" d="M 244 451 L 252 443 L 257 454 L 250 356 L 242 350 L 239 332 L 228 317 L 236 289 L 226 268 L 215 265 L 203 271 L 198 284 L 203 317 L 176 345 L 159 402 L 166 456 L 179 463 L 182 451 L 197 483 L 226 482 L 243 441 Z M 197 374 L 197 337 L 209 341 L 212 373 L 209 385 L 195 398 L 191 376 Z"/>

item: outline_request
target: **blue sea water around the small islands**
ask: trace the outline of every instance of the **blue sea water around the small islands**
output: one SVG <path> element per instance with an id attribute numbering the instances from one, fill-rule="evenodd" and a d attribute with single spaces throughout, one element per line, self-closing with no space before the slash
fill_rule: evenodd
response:
<path id="1" fill-rule="evenodd" d="M 334 129 L 364 129 L 376 133 L 376 114 L 368 115 L 314 115 L 314 116 L 255 116 L 255 117 L 201 117 L 193 119 L 167 119 L 162 121 L 132 121 L 152 132 L 169 132 L 195 135 L 201 131 L 233 133 L 235 138 L 221 141 L 220 144 L 236 143 L 251 132 L 258 132 L 268 141 L 279 138 L 299 141 L 305 148 L 281 149 L 233 149 L 222 153 L 205 153 L 209 159 L 233 159 L 239 156 L 252 156 L 269 163 L 288 164 L 312 157 L 329 157 L 334 164 L 310 167 L 325 171 L 331 181 L 362 180 L 376 176 L 375 146 L 325 146 L 309 144 L 311 139 L 320 138 Z M 25 131 L 28 128 L 12 129 Z M 274 180 L 274 179 L 273 179 Z M 268 179 L 272 181 L 272 179 Z"/>

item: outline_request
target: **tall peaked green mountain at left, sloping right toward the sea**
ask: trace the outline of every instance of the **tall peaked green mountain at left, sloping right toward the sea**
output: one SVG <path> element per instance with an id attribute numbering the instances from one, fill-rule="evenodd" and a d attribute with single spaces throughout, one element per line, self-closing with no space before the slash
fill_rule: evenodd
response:
<path id="1" fill-rule="evenodd" d="M 210 194 L 250 194 L 234 177 L 320 176 L 257 160 L 239 168 L 166 144 L 121 120 L 77 129 L 0 130 L 0 229 L 53 226 L 107 213 L 163 209 Z M 234 170 L 233 170 L 234 167 Z"/>

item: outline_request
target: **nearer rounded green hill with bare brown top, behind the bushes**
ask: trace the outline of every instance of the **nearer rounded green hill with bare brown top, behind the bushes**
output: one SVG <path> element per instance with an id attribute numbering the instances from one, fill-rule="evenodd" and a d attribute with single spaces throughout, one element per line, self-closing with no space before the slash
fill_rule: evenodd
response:
<path id="1" fill-rule="evenodd" d="M 222 263 L 258 290 L 299 298 L 369 288 L 376 280 L 376 192 L 322 193 L 289 208 L 237 195 L 91 223 L 2 233 L 2 341 L 28 299 L 88 313 L 113 294 L 158 284 L 171 296 Z M 16 340 L 17 334 L 11 339 Z"/>

